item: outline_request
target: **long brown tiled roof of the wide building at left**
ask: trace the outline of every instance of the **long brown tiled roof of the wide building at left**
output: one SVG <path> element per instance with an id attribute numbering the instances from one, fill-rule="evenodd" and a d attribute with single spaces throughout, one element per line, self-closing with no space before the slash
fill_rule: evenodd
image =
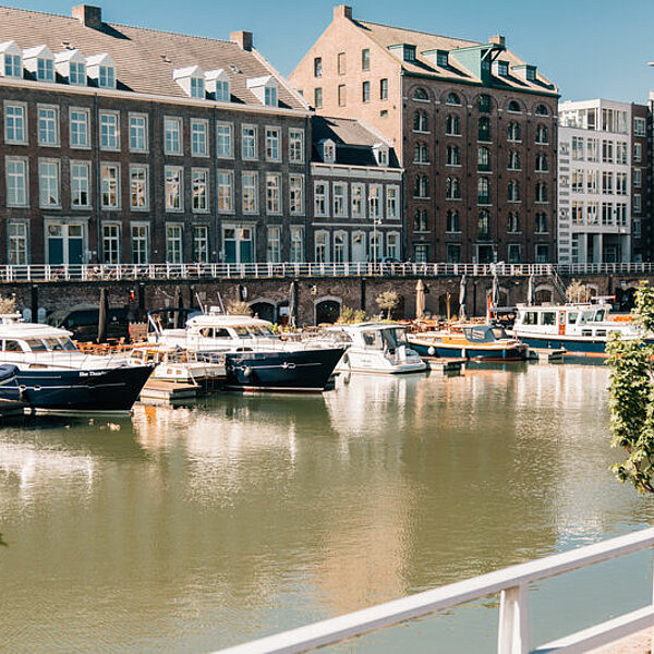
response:
<path id="1" fill-rule="evenodd" d="M 77 48 L 86 57 L 107 52 L 116 61 L 118 88 L 143 94 L 185 98 L 172 71 L 199 65 L 204 71 L 225 69 L 232 101 L 261 106 L 246 80 L 272 74 L 279 82 L 279 106 L 305 109 L 258 53 L 226 40 L 112 23 L 93 29 L 73 17 L 0 7 L 0 43 L 10 39 L 22 49 L 45 44 L 55 53 L 66 46 Z"/>

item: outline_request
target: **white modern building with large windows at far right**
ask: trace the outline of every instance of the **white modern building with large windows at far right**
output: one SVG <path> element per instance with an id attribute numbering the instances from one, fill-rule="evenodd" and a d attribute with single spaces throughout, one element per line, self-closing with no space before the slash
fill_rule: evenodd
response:
<path id="1" fill-rule="evenodd" d="M 640 259 L 645 184 L 640 138 L 646 120 L 635 105 L 594 99 L 559 105 L 558 261 L 560 264 Z M 646 113 L 645 113 L 646 116 Z M 640 152 L 639 152 L 640 150 Z"/>

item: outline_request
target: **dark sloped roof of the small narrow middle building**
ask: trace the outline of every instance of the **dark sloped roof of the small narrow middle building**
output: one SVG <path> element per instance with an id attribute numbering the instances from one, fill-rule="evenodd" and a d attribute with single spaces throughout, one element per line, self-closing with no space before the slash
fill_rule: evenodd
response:
<path id="1" fill-rule="evenodd" d="M 361 121 L 351 118 L 314 117 L 312 159 L 322 161 L 317 145 L 330 138 L 336 144 L 336 162 L 344 166 L 372 166 L 378 168 L 373 146 L 384 144 L 389 149 L 389 167 L 397 168 L 398 161 L 392 147 L 384 136 L 376 134 Z"/>

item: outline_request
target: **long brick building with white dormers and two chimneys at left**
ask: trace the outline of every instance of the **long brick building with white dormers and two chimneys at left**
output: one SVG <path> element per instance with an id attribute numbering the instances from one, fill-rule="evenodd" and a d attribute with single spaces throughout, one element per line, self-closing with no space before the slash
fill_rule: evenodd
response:
<path id="1" fill-rule="evenodd" d="M 0 9 L 0 263 L 304 261 L 311 111 L 231 41 Z"/>

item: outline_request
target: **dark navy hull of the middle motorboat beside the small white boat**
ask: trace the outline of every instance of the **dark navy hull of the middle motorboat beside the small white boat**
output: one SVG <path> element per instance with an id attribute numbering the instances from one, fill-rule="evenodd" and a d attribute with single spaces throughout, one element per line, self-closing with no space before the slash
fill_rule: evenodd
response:
<path id="1" fill-rule="evenodd" d="M 343 348 L 227 352 L 226 386 L 240 390 L 319 392 L 327 387 Z"/>

